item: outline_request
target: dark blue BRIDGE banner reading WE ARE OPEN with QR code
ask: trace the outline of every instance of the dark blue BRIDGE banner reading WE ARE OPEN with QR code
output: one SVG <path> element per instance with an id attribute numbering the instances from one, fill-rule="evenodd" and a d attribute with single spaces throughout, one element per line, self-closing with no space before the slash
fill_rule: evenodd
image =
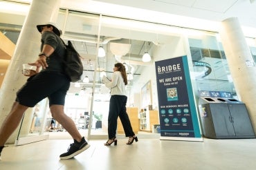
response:
<path id="1" fill-rule="evenodd" d="M 187 56 L 155 62 L 161 140 L 202 141 Z"/>

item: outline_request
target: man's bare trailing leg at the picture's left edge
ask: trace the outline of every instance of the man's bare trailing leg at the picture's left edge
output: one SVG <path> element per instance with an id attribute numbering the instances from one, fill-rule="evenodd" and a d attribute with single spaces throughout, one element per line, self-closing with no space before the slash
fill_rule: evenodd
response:
<path id="1" fill-rule="evenodd" d="M 23 106 L 18 102 L 13 104 L 12 110 L 6 117 L 6 120 L 3 121 L 0 128 L 0 146 L 3 146 L 10 135 L 17 129 L 27 108 L 28 106 Z"/>

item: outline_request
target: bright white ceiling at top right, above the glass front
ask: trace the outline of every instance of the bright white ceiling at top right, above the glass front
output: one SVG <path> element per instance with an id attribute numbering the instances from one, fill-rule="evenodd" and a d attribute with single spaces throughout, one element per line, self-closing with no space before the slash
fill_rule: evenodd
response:
<path id="1" fill-rule="evenodd" d="M 120 6 L 141 8 L 191 19 L 221 22 L 237 17 L 242 26 L 256 28 L 255 0 L 95 0 Z M 138 14 L 137 14 L 138 15 Z M 140 14 L 143 15 L 143 14 Z M 168 20 L 168 18 L 165 18 Z M 185 23 L 184 23 L 185 24 Z"/>

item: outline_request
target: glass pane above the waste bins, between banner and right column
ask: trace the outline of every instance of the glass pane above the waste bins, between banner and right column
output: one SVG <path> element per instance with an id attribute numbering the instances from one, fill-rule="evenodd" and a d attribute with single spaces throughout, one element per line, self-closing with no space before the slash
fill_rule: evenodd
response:
<path id="1" fill-rule="evenodd" d="M 193 63 L 191 76 L 197 91 L 227 91 L 236 96 L 226 55 L 217 34 L 190 37 L 188 40 Z"/>

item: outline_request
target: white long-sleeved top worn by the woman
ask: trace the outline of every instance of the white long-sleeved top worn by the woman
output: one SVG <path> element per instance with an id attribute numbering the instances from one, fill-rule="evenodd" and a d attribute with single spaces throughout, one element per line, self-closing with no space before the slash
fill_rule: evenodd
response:
<path id="1" fill-rule="evenodd" d="M 103 76 L 103 82 L 110 89 L 111 95 L 126 95 L 125 82 L 120 71 L 113 72 L 111 80 Z"/>

